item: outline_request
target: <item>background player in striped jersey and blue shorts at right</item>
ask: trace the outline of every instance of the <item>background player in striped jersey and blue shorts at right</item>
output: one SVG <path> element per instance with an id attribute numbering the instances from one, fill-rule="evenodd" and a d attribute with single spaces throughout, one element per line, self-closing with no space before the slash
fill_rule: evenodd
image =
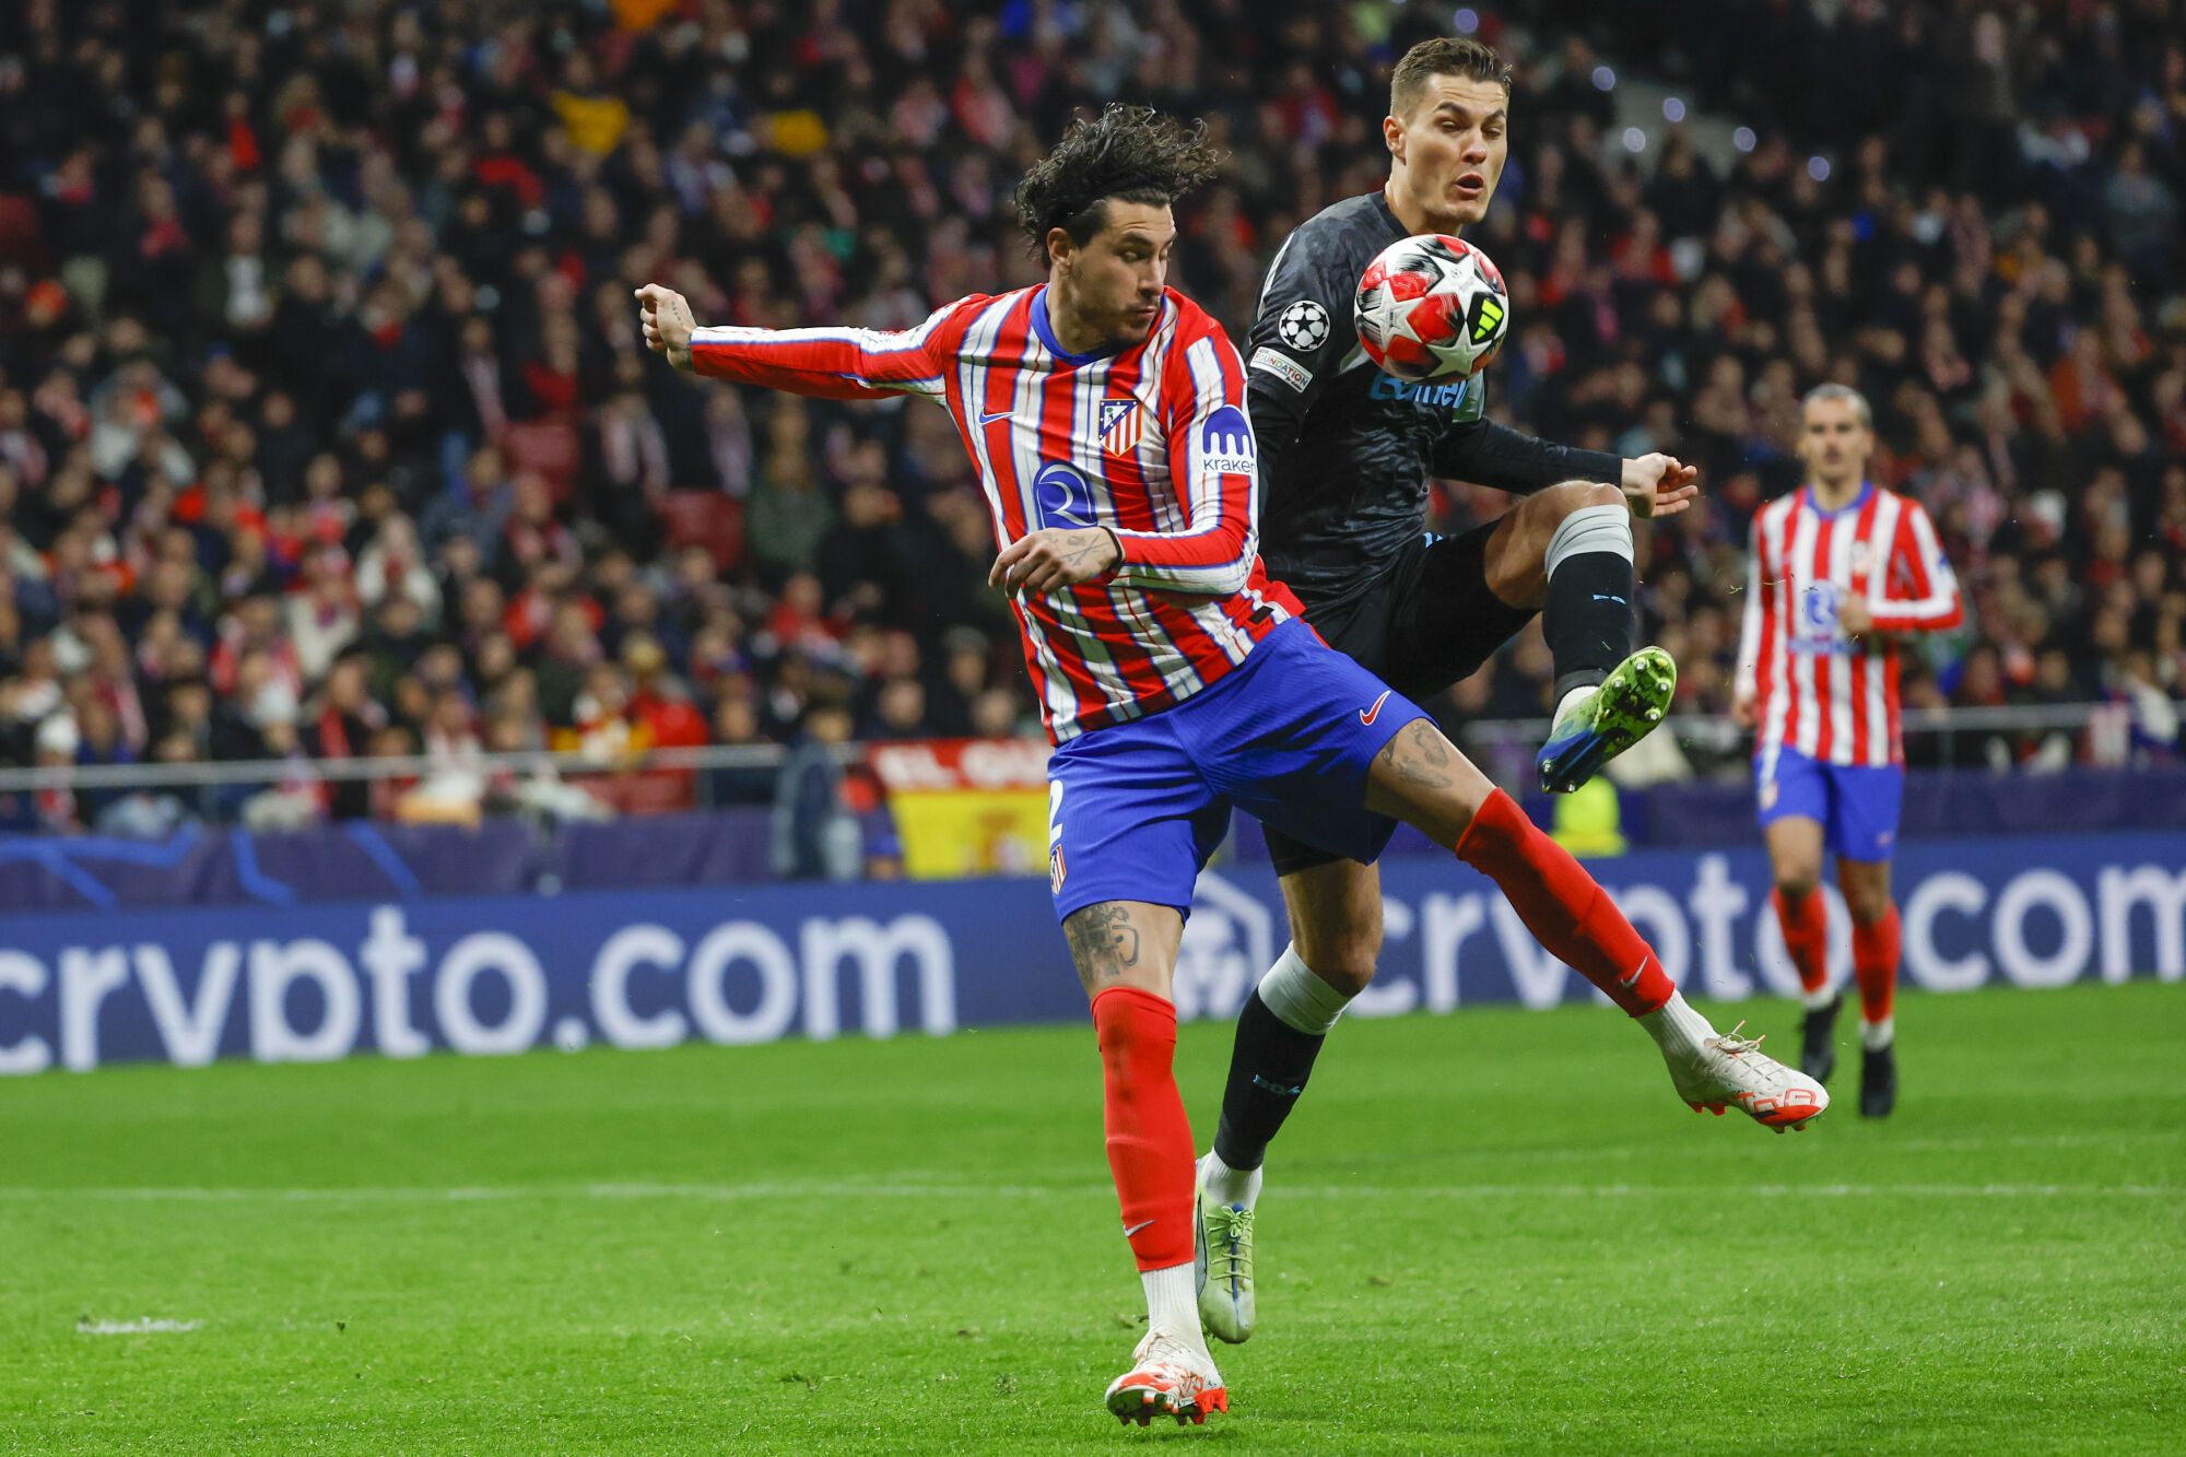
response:
<path id="1" fill-rule="evenodd" d="M 1897 639 L 1956 628 L 1961 606 L 1928 512 L 1867 479 L 1873 446 L 1873 416 L 1858 392 L 1821 385 L 1806 396 L 1806 483 L 1753 516 L 1731 711 L 1755 728 L 1753 783 L 1777 923 L 1806 989 L 1801 1065 L 1817 1081 L 1836 1070 L 1841 998 L 1830 987 L 1821 901 L 1821 853 L 1830 849 L 1852 910 L 1860 1114 L 1882 1118 L 1897 1100 Z"/>

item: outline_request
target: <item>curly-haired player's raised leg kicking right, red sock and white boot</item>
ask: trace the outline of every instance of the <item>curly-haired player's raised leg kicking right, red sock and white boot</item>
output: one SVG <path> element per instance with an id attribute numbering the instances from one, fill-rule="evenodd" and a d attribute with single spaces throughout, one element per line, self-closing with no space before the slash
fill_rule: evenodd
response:
<path id="1" fill-rule="evenodd" d="M 1830 1105 L 1819 1083 L 1740 1039 L 1738 1028 L 1718 1035 L 1688 1006 L 1609 893 L 1425 718 L 1406 724 L 1375 757 L 1366 807 L 1419 827 L 1493 879 L 1535 941 L 1655 1037 L 1679 1096 L 1694 1109 L 1736 1107 L 1784 1131 L 1806 1127 Z"/>

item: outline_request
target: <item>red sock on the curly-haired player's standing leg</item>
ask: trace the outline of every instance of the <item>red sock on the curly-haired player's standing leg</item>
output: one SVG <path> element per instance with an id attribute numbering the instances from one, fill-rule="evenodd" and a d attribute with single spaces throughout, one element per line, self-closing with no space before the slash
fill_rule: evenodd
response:
<path id="1" fill-rule="evenodd" d="M 1139 1269 L 1191 1262 L 1191 1122 L 1176 1092 L 1176 1006 L 1137 987 L 1093 998 L 1108 1170 Z"/>

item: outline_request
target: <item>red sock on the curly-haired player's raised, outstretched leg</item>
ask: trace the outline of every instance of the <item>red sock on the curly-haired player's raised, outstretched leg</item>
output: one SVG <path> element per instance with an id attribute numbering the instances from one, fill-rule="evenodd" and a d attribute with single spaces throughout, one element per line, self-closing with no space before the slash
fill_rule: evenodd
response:
<path id="1" fill-rule="evenodd" d="M 1677 991 L 1609 893 L 1502 790 L 1489 794 L 1458 836 L 1458 860 L 1502 888 L 1535 941 L 1633 1017 Z"/>

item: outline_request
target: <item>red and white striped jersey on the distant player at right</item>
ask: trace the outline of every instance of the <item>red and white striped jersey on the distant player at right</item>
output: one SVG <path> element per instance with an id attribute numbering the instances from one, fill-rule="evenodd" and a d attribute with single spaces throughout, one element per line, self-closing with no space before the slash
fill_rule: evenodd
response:
<path id="1" fill-rule="evenodd" d="M 1873 630 L 1836 619 L 1865 597 Z M 1904 764 L 1897 737 L 1897 632 L 1961 621 L 1959 578 L 1919 501 L 1862 483 L 1834 512 L 1812 488 L 1753 516 L 1738 691 L 1758 709 L 1755 757 L 1795 748 L 1823 764 Z"/>

